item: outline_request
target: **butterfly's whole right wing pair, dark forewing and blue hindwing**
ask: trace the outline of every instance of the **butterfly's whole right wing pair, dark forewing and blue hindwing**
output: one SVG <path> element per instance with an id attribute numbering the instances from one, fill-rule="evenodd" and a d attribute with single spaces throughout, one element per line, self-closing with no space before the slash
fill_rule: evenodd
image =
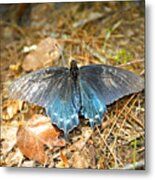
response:
<path id="1" fill-rule="evenodd" d="M 90 65 L 80 68 L 82 96 L 81 114 L 100 124 L 106 105 L 117 99 L 141 91 L 143 79 L 132 72 L 106 65 Z"/>

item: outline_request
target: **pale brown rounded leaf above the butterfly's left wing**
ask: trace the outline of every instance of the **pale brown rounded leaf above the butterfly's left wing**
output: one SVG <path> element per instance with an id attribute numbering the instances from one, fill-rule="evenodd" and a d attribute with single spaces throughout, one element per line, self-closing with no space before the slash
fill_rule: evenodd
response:
<path id="1" fill-rule="evenodd" d="M 48 37 L 38 44 L 37 48 L 28 54 L 22 64 L 25 71 L 37 70 L 58 64 L 61 56 L 60 45 L 56 39 Z"/>

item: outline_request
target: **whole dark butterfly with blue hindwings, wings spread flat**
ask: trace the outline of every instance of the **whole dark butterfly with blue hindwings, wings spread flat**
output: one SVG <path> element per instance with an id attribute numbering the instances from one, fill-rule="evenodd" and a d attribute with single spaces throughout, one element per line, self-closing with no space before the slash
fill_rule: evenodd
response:
<path id="1" fill-rule="evenodd" d="M 79 116 L 89 119 L 92 128 L 101 124 L 107 105 L 143 89 L 143 78 L 130 71 L 102 64 L 79 68 L 75 60 L 70 68 L 44 68 L 9 87 L 11 98 L 44 107 L 64 134 L 79 125 Z"/>

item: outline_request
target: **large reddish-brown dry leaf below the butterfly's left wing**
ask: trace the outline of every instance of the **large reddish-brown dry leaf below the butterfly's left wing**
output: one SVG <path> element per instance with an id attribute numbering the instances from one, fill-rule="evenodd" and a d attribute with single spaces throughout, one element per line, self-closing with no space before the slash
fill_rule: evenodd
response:
<path id="1" fill-rule="evenodd" d="M 58 139 L 59 132 L 52 126 L 50 119 L 42 115 L 32 118 L 17 133 L 17 145 L 21 152 L 31 160 L 46 164 L 48 157 L 44 145 L 52 149 L 54 146 L 64 146 L 65 141 Z"/>

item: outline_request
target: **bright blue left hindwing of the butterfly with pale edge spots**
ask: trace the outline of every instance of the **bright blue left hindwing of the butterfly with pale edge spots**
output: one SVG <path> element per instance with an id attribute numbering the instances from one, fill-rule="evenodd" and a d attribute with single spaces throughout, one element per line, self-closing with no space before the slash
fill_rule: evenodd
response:
<path id="1" fill-rule="evenodd" d="M 74 82 L 71 78 L 69 76 L 64 77 L 60 90 L 55 94 L 51 104 L 46 107 L 46 112 L 51 117 L 52 122 L 65 134 L 68 134 L 79 124 L 77 106 L 74 105 L 74 90 Z"/>

